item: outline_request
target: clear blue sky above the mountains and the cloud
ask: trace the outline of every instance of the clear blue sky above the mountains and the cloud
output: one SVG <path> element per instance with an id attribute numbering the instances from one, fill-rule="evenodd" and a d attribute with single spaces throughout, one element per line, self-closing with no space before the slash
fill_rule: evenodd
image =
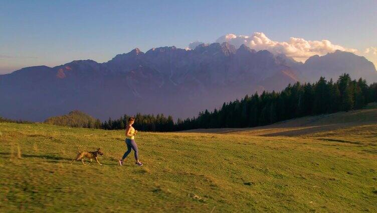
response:
<path id="1" fill-rule="evenodd" d="M 0 74 L 77 59 L 105 62 L 135 47 L 185 48 L 196 40 L 254 32 L 277 42 L 326 39 L 377 64 L 375 0 L 0 0 L 0 5 Z"/>

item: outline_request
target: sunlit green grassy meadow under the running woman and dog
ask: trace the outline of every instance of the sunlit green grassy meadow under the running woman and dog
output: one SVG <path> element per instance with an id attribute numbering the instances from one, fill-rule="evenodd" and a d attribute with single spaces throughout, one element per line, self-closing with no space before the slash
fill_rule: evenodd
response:
<path id="1" fill-rule="evenodd" d="M 144 166 L 132 152 L 120 167 L 123 131 L 0 123 L 0 212 L 376 212 L 376 138 L 376 125 L 296 137 L 141 132 Z M 78 145 L 100 147 L 103 165 L 70 165 Z"/>

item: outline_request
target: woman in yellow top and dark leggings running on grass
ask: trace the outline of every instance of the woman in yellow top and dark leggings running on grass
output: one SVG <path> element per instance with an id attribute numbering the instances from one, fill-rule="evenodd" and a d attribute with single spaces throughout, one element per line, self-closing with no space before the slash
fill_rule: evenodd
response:
<path id="1" fill-rule="evenodd" d="M 134 118 L 128 119 L 128 125 L 126 128 L 126 145 L 127 145 L 127 151 L 124 153 L 122 160 L 119 160 L 119 165 L 123 165 L 123 160 L 127 157 L 127 155 L 131 152 L 131 149 L 135 152 L 135 160 L 136 165 L 142 166 L 143 164 L 139 161 L 139 151 L 137 150 L 137 145 L 135 142 L 135 135 L 137 133 L 137 130 L 135 130 L 132 125 L 135 122 Z"/>

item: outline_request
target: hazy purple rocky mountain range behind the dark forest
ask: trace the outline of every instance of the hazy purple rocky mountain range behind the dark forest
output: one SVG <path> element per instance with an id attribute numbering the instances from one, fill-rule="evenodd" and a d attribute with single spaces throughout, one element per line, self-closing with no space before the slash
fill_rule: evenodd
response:
<path id="1" fill-rule="evenodd" d="M 377 81 L 373 63 L 342 51 L 302 63 L 226 42 L 193 50 L 172 46 L 144 53 L 135 48 L 105 63 L 76 60 L 0 75 L 0 116 L 43 121 L 80 110 L 101 120 L 135 113 L 186 118 L 255 91 L 280 90 L 320 76 L 336 80 L 342 73 Z"/>

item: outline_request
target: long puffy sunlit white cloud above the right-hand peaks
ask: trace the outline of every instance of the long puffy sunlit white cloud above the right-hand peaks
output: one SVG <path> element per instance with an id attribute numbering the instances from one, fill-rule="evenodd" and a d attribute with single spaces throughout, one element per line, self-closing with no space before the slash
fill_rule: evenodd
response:
<path id="1" fill-rule="evenodd" d="M 228 34 L 220 37 L 216 42 L 228 42 L 239 48 L 242 44 L 255 50 L 268 50 L 275 54 L 285 54 L 297 61 L 305 61 L 313 55 L 325 55 L 335 50 L 356 53 L 356 49 L 345 48 L 332 44 L 329 40 L 307 41 L 303 38 L 291 37 L 288 41 L 279 42 L 269 39 L 264 33 L 254 33 L 251 36 L 237 36 Z"/>

